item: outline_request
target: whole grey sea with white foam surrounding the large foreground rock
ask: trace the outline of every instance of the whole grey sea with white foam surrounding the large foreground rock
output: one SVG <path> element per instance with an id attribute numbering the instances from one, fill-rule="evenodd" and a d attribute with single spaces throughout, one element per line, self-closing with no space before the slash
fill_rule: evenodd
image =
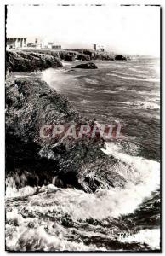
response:
<path id="1" fill-rule="evenodd" d="M 98 123 L 122 124 L 122 139 L 102 151 L 127 180 L 125 189 L 88 194 L 53 184 L 6 189 L 9 250 L 136 251 L 160 249 L 160 73 L 159 60 L 95 61 L 98 69 L 64 68 L 36 73 Z M 31 73 L 26 73 L 31 75 Z M 15 77 L 25 73 L 15 73 Z M 125 166 L 120 165 L 124 162 Z M 12 185 L 12 186 L 11 186 Z"/>

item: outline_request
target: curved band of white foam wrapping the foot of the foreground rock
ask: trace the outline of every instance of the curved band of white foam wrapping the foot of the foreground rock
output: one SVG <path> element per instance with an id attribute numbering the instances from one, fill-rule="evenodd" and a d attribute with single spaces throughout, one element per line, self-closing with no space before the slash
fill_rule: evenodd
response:
<path id="1" fill-rule="evenodd" d="M 43 187 L 41 191 L 55 191 L 47 197 L 33 195 L 29 199 L 29 207 L 39 212 L 65 212 L 72 218 L 117 218 L 122 214 L 134 212 L 136 207 L 159 188 L 159 163 L 142 157 L 125 154 L 115 143 L 107 143 L 105 154 L 116 157 L 121 162 L 113 166 L 114 172 L 127 180 L 126 188 L 100 189 L 95 194 L 88 194 L 77 189 L 57 189 L 54 185 Z M 125 166 L 125 167 L 124 167 Z M 53 190 L 52 190 L 53 189 Z M 44 207 L 48 205 L 49 207 Z"/>

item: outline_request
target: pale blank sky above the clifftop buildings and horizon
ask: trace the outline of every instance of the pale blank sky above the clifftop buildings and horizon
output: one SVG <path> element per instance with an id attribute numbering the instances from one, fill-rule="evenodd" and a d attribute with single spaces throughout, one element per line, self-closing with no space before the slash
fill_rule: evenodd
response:
<path id="1" fill-rule="evenodd" d="M 62 48 L 133 55 L 160 53 L 160 9 L 151 6 L 9 5 L 7 37 L 41 38 Z"/>

